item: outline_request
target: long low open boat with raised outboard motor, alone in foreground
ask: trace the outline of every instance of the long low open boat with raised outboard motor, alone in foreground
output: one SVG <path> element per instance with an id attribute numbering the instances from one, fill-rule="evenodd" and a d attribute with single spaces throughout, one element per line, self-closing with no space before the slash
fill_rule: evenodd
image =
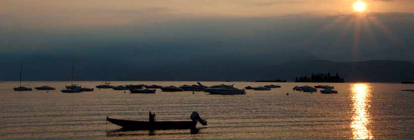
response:
<path id="1" fill-rule="evenodd" d="M 207 121 L 200 118 L 199 114 L 195 111 L 191 114 L 190 118 L 191 121 L 131 121 L 112 119 L 106 116 L 108 122 L 128 130 L 196 129 L 197 122 L 200 122 L 202 125 L 207 125 Z"/>

